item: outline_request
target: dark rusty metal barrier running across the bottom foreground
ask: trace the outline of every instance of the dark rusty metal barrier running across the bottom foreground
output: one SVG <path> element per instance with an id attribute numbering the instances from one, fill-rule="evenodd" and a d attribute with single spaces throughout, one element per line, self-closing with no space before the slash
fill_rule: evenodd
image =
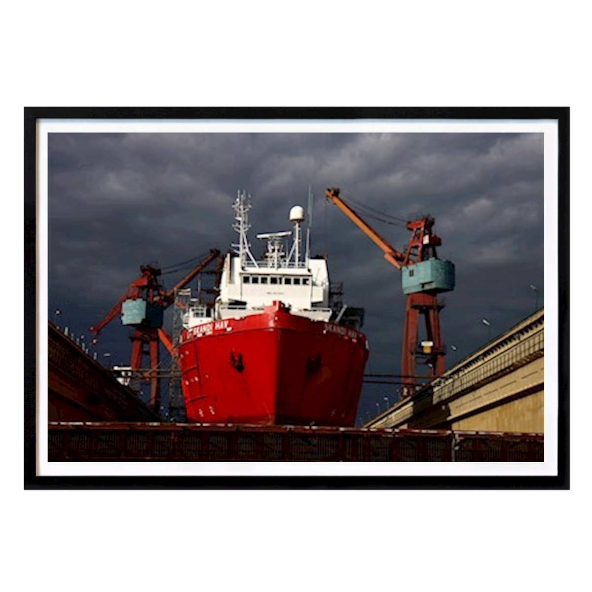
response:
<path id="1" fill-rule="evenodd" d="M 49 461 L 543 461 L 543 436 L 446 430 L 49 424 Z"/>

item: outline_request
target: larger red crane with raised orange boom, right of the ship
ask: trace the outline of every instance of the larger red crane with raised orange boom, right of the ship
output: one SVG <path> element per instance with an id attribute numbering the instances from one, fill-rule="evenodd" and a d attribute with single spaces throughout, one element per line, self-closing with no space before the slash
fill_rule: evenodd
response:
<path id="1" fill-rule="evenodd" d="M 391 265 L 403 272 L 403 292 L 407 298 L 401 353 L 401 396 L 408 397 L 416 390 L 417 358 L 422 357 L 426 362 L 430 379 L 444 372 L 445 349 L 439 318 L 444 305 L 437 299 L 437 294 L 454 288 L 454 265 L 450 261 L 437 259 L 436 247 L 442 244 L 442 240 L 433 232 L 434 218 L 426 216 L 406 223 L 411 237 L 407 248 L 401 253 L 339 197 L 339 189 L 327 189 L 326 196 L 382 249 L 384 258 Z M 426 339 L 421 343 L 420 314 L 424 317 L 426 327 Z"/>

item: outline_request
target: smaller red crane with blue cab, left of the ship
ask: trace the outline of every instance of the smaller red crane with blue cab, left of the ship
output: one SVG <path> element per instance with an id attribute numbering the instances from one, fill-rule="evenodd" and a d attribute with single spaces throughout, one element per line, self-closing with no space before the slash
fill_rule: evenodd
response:
<path id="1" fill-rule="evenodd" d="M 131 370 L 139 371 L 142 368 L 142 358 L 144 356 L 149 358 L 149 371 L 144 374 L 144 377 L 150 381 L 150 407 L 156 411 L 160 406 L 160 380 L 157 374 L 159 369 L 159 340 L 174 355 L 172 340 L 162 328 L 164 311 L 175 300 L 175 292 L 191 282 L 219 256 L 219 250 L 210 249 L 209 255 L 195 265 L 184 278 L 179 280 L 168 291 L 165 291 L 159 282 L 160 269 L 152 265 L 142 265 L 140 267 L 140 277 L 131 282 L 105 317 L 91 327 L 91 332 L 98 336 L 107 323 L 121 315 L 122 324 L 135 328 L 134 333 L 130 336 Z"/>

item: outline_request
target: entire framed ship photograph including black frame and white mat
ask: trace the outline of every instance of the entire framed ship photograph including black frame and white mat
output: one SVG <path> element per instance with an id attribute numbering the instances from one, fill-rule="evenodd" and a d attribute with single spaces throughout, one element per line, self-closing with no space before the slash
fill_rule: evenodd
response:
<path id="1" fill-rule="evenodd" d="M 568 108 L 24 134 L 25 488 L 569 487 Z"/>

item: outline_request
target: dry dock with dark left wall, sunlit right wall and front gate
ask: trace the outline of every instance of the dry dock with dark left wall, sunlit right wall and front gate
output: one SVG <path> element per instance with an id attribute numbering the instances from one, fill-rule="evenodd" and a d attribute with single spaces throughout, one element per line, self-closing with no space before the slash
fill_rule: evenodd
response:
<path id="1" fill-rule="evenodd" d="M 49 461 L 543 461 L 544 314 L 364 427 L 161 423 L 49 327 Z M 487 431 L 485 431 L 487 430 Z"/>

